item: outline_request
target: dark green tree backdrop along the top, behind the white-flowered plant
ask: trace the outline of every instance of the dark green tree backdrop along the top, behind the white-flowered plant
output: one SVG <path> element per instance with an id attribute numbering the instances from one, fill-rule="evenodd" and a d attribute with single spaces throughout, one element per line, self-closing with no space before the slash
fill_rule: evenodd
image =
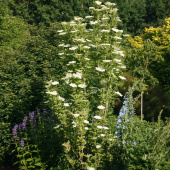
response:
<path id="1" fill-rule="evenodd" d="M 22 16 L 29 24 L 70 21 L 73 16 L 89 15 L 88 7 L 94 0 L 8 0 L 14 16 Z M 103 0 L 106 2 L 106 0 Z M 139 35 L 144 27 L 160 26 L 170 16 L 169 0 L 110 0 L 117 4 L 122 23 L 119 28 L 132 35 Z"/>

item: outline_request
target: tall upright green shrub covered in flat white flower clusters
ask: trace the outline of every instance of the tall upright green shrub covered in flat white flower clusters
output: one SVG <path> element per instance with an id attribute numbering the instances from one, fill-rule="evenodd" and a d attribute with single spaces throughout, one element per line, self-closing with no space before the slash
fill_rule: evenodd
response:
<path id="1" fill-rule="evenodd" d="M 65 157 L 73 168 L 95 169 L 104 160 L 113 160 L 116 140 L 110 118 L 126 79 L 121 75 L 126 68 L 123 31 L 116 28 L 120 19 L 115 5 L 95 1 L 90 16 L 76 16 L 58 30 L 62 39 L 58 55 L 68 71 L 61 80 L 48 82 L 47 93 L 65 134 Z"/>

